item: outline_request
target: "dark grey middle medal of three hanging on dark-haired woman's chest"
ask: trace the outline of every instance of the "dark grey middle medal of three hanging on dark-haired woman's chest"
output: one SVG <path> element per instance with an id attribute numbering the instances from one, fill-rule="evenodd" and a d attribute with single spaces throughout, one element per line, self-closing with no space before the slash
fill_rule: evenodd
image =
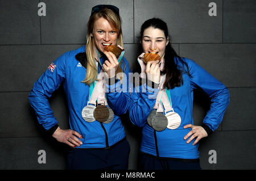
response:
<path id="1" fill-rule="evenodd" d="M 156 112 L 156 114 L 152 117 L 151 125 L 155 131 L 163 131 L 168 125 L 167 117 L 164 116 L 162 112 Z"/>

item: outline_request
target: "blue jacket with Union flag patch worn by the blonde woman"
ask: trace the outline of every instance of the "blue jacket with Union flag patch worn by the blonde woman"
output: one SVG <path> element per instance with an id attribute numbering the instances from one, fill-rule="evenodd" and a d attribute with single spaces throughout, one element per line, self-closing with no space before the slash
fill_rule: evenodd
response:
<path id="1" fill-rule="evenodd" d="M 118 80 L 114 85 L 106 83 L 106 89 L 109 90 L 106 93 L 106 99 L 114 111 L 114 119 L 111 123 L 86 122 L 81 115 L 82 109 L 87 106 L 89 99 L 89 86 L 81 82 L 85 78 L 86 68 L 81 66 L 75 58 L 76 54 L 81 52 L 85 52 L 85 46 L 66 52 L 53 61 L 52 67 L 47 69 L 34 83 L 28 99 L 36 112 L 39 123 L 49 130 L 58 122 L 49 106 L 48 98 L 63 83 L 67 97 L 70 128 L 82 135 L 82 139 L 80 139 L 82 145 L 79 148 L 109 148 L 125 138 L 125 130 L 118 115 L 125 113 L 129 107 L 128 86 L 124 86 L 127 87 L 126 91 L 114 91 L 122 90 L 124 82 L 121 84 Z M 105 60 L 104 57 L 100 58 L 101 65 Z M 126 75 L 129 74 L 129 64 L 124 57 L 121 68 Z M 99 65 L 98 73 L 100 70 L 101 66 Z"/>

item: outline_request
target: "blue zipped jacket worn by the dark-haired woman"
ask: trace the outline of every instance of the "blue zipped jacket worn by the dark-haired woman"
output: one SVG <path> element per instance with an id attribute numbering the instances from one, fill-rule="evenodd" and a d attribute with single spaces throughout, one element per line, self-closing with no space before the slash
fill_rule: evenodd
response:
<path id="1" fill-rule="evenodd" d="M 147 117 L 155 105 L 155 96 L 158 89 L 152 89 L 146 84 L 140 87 L 145 92 L 132 92 L 130 98 L 129 114 L 133 124 L 142 128 L 141 151 L 156 157 L 197 159 L 199 151 L 197 143 L 193 141 L 187 144 L 184 136 L 191 131 L 191 128 L 184 129 L 184 125 L 193 124 L 193 90 L 200 88 L 211 98 L 210 110 L 203 120 L 211 131 L 218 128 L 224 116 L 224 112 L 229 104 L 228 89 L 207 71 L 188 58 L 182 58 L 187 63 L 189 77 L 183 70 L 187 67 L 175 57 L 177 68 L 183 71 L 183 85 L 170 89 L 171 101 L 174 111 L 181 117 L 181 124 L 177 129 L 164 129 L 155 131 L 147 123 Z M 138 89 L 138 88 L 137 88 Z M 151 96 L 151 98 L 150 98 Z"/>

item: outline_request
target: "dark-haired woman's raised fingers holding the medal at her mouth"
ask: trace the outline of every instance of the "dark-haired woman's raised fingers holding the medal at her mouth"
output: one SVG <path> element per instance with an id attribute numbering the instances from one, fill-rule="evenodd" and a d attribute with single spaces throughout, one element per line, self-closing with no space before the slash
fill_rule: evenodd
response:
<path id="1" fill-rule="evenodd" d="M 147 79 L 151 82 L 160 82 L 160 66 L 159 61 L 149 61 L 146 65 Z"/>

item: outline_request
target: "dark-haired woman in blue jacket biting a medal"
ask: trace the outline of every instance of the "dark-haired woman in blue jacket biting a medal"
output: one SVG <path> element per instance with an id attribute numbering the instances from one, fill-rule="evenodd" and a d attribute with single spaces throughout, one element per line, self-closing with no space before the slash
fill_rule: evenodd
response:
<path id="1" fill-rule="evenodd" d="M 163 20 L 144 22 L 140 42 L 140 82 L 146 83 L 131 93 L 129 114 L 132 123 L 142 127 L 142 169 L 201 169 L 199 140 L 218 128 L 229 91 L 194 61 L 175 53 Z M 161 58 L 144 63 L 146 53 Z M 204 90 L 211 98 L 203 125 L 193 124 L 194 89 Z"/>

